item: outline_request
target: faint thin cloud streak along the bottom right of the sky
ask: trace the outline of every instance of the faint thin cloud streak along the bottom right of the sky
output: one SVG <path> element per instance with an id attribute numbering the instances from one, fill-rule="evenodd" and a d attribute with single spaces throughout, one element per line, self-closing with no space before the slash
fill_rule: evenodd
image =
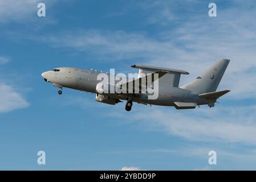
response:
<path id="1" fill-rule="evenodd" d="M 173 147 L 170 144 L 171 148 L 159 148 L 159 149 L 146 149 L 137 151 L 132 150 L 125 150 L 119 151 L 117 154 L 122 155 L 145 155 L 147 156 L 148 153 L 155 153 L 154 156 L 165 156 L 166 158 L 185 158 L 191 160 L 201 160 L 202 164 L 198 167 L 197 163 L 194 163 L 194 166 L 190 166 L 191 168 L 187 168 L 190 170 L 214 170 L 214 169 L 255 169 L 254 163 L 256 162 L 255 159 L 255 150 L 248 148 L 248 147 L 241 147 L 235 146 L 233 144 L 227 145 L 223 144 L 212 144 L 212 143 L 204 143 L 202 146 L 201 143 L 193 143 L 193 144 L 186 144 L 185 142 L 179 147 Z M 208 164 L 209 160 L 209 151 L 216 151 L 217 154 L 217 165 L 212 166 Z M 114 154 L 116 151 L 114 151 Z M 227 164 L 227 165 L 226 165 Z M 234 164 L 234 165 L 233 165 Z M 239 165 L 238 165 L 239 164 Z"/>

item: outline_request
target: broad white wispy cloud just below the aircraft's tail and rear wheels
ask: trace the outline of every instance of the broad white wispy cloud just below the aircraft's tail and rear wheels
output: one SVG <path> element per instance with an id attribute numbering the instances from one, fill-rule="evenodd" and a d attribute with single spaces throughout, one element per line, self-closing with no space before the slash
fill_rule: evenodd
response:
<path id="1" fill-rule="evenodd" d="M 200 142 L 256 144 L 256 107 L 220 106 L 209 109 L 176 110 L 141 106 L 133 110 L 129 121 L 141 123 L 145 130 L 166 133 Z M 127 118 L 127 113 L 116 115 Z"/>

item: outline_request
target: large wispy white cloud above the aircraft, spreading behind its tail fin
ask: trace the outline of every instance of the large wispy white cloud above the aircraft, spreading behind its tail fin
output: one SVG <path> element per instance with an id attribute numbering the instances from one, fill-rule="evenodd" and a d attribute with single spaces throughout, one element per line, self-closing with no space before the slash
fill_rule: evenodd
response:
<path id="1" fill-rule="evenodd" d="M 193 15 L 171 30 L 159 31 L 157 36 L 145 32 L 73 30 L 46 35 L 40 41 L 73 48 L 100 61 L 125 60 L 184 69 L 191 76 L 182 76 L 180 85 L 192 81 L 218 59 L 231 59 L 219 89 L 230 89 L 232 92 L 225 97 L 232 100 L 251 98 L 256 97 L 256 24 L 252 23 L 256 7 L 248 6 L 250 9 L 243 5 L 219 11 L 215 19 L 207 14 Z M 234 14 L 239 16 L 234 18 Z"/>

